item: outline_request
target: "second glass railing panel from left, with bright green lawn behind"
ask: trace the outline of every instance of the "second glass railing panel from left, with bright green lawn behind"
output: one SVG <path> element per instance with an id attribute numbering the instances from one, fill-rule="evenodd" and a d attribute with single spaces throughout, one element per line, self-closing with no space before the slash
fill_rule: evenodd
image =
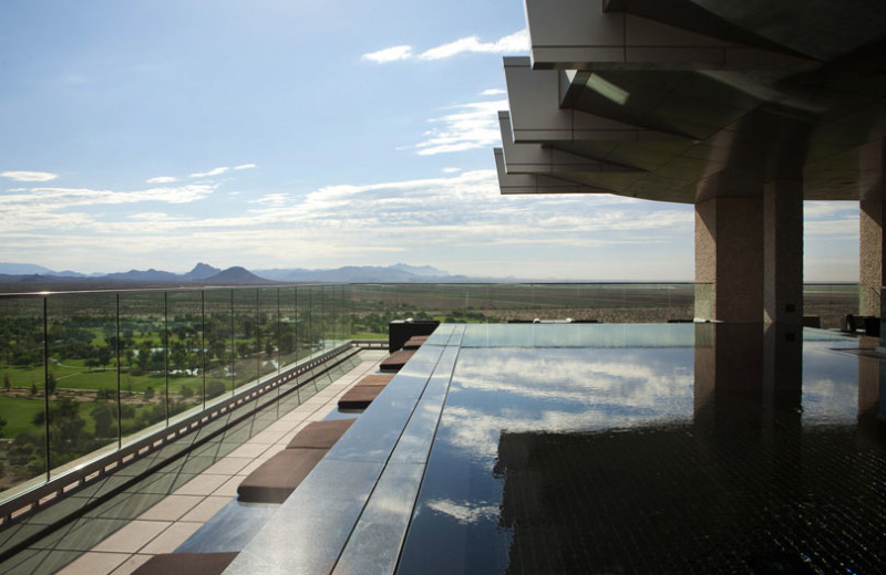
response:
<path id="1" fill-rule="evenodd" d="M 49 436 L 50 473 L 116 446 L 116 296 L 58 294 L 48 300 L 49 412 L 32 421 Z"/>

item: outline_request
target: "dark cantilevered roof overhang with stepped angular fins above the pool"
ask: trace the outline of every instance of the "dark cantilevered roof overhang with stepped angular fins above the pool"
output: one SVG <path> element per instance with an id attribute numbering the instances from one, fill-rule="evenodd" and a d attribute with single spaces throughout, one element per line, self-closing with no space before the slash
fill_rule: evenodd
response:
<path id="1" fill-rule="evenodd" d="M 818 1 L 786 13 L 783 2 L 526 0 L 530 59 L 505 59 L 505 172 L 538 172 L 526 157 L 543 150 L 542 171 L 638 198 L 694 203 L 794 178 L 806 199 L 858 199 L 870 176 L 859 149 L 886 138 L 886 4 L 861 2 L 864 19 L 843 6 L 839 20 Z M 569 168 L 576 158 L 610 168 Z"/>

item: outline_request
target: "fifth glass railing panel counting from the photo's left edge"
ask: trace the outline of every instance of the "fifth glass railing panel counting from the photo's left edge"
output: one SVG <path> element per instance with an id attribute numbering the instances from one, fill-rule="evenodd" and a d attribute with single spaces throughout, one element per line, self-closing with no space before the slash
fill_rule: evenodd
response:
<path id="1" fill-rule="evenodd" d="M 234 292 L 207 290 L 204 338 L 206 346 L 206 400 L 234 391 Z"/>

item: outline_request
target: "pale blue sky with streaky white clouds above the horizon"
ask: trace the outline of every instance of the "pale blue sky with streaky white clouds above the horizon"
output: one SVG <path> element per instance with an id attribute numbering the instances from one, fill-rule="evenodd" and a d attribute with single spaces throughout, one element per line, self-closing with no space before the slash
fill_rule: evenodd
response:
<path id="1" fill-rule="evenodd" d="M 691 206 L 501 196 L 521 0 L 3 0 L 0 262 L 691 281 Z M 806 202 L 807 281 L 858 209 Z"/>

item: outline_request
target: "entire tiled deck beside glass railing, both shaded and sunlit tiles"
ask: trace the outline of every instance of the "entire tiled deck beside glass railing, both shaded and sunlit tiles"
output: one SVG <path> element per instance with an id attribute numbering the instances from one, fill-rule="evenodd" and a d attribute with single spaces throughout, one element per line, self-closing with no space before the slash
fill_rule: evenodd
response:
<path id="1" fill-rule="evenodd" d="M 239 482 L 301 428 L 336 417 L 338 398 L 364 375 L 377 373 L 385 355 L 361 352 L 359 359 L 348 365 L 349 370 L 333 373 L 334 380 L 327 376 L 312 395 L 306 389 L 302 396 L 307 398 L 300 405 L 292 399 L 297 407 L 279 419 L 276 414 L 259 412 L 235 426 L 223 439 L 188 454 L 174 470 L 152 475 L 0 564 L 0 573 L 125 575 L 155 554 L 175 551 L 236 501 Z M 93 495 L 83 493 L 80 500 L 86 502 Z"/>

